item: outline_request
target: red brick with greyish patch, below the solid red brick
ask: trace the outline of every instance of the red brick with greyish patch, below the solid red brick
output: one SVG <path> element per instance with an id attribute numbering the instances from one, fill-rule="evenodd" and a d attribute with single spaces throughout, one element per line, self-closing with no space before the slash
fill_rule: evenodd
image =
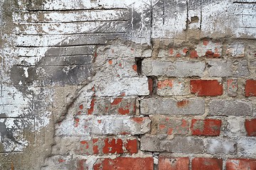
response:
<path id="1" fill-rule="evenodd" d="M 218 136 L 220 135 L 220 128 L 221 120 L 191 120 L 192 135 Z"/>

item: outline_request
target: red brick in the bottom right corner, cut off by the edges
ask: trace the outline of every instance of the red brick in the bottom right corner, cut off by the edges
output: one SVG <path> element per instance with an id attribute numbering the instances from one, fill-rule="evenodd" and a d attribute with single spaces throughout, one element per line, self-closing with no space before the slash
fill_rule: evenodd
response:
<path id="1" fill-rule="evenodd" d="M 226 170 L 248 169 L 256 169 L 256 159 L 228 159 L 226 162 Z"/>

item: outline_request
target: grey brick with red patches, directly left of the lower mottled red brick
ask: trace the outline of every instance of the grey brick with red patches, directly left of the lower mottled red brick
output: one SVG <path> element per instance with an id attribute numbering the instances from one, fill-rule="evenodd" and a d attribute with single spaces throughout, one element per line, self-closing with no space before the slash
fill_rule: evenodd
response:
<path id="1" fill-rule="evenodd" d="M 151 119 L 151 135 L 186 135 L 189 132 L 188 120 L 170 118 L 164 115 L 153 115 Z"/>

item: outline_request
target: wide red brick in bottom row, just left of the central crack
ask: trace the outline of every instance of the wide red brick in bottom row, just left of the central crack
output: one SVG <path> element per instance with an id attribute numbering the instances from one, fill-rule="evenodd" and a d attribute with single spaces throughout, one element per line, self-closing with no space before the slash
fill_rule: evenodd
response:
<path id="1" fill-rule="evenodd" d="M 93 170 L 153 170 L 153 157 L 117 157 L 116 159 L 98 159 Z"/>

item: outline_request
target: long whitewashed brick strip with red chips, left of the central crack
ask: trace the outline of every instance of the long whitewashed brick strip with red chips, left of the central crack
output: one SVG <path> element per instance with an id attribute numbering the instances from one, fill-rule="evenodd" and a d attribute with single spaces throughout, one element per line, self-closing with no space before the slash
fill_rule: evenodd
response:
<path id="1" fill-rule="evenodd" d="M 149 118 L 130 118 L 127 115 L 119 117 L 114 115 L 102 115 L 101 117 L 80 115 L 79 121 L 76 119 L 65 120 L 56 125 L 55 134 L 66 136 L 139 135 L 150 131 L 151 122 Z"/>

